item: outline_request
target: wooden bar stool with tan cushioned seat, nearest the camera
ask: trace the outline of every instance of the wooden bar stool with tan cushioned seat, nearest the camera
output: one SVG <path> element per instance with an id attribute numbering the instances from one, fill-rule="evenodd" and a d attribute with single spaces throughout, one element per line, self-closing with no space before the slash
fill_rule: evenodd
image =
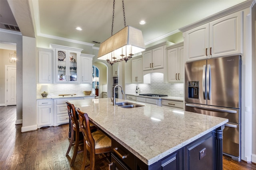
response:
<path id="1" fill-rule="evenodd" d="M 81 170 L 90 166 L 90 170 L 95 167 L 95 154 L 102 154 L 111 152 L 111 139 L 107 137 L 102 131 L 98 130 L 93 133 L 90 131 L 90 120 L 87 113 L 76 109 L 79 116 L 80 129 L 84 135 L 84 157 Z M 89 129 L 89 130 L 88 130 Z M 86 166 L 87 150 L 90 152 L 90 165 Z M 104 158 L 100 159 L 102 161 Z"/>

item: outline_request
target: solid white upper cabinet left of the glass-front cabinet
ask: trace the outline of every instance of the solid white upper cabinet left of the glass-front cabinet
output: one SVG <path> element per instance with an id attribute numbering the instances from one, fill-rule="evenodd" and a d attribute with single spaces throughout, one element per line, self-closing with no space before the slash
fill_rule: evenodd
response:
<path id="1" fill-rule="evenodd" d="M 52 83 L 52 49 L 37 48 L 38 83 Z"/>

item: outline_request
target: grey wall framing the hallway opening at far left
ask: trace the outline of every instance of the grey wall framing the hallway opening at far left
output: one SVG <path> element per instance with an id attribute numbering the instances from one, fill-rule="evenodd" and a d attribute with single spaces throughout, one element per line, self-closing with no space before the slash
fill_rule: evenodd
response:
<path id="1" fill-rule="evenodd" d="M 0 41 L 16 43 L 17 49 L 17 111 L 16 124 L 22 123 L 22 35 L 14 31 L 0 29 Z"/>

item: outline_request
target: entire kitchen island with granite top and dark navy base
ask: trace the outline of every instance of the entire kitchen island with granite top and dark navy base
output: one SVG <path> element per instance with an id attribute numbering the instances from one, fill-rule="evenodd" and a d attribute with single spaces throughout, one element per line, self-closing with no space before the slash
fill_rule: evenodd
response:
<path id="1" fill-rule="evenodd" d="M 113 106 L 110 98 L 68 102 L 88 113 L 112 139 L 114 152 L 113 145 L 120 145 L 120 151 L 134 156 L 132 161 L 121 160 L 130 169 L 196 169 L 205 164 L 207 169 L 222 169 L 222 130 L 228 119 L 152 104 L 123 108 Z"/>

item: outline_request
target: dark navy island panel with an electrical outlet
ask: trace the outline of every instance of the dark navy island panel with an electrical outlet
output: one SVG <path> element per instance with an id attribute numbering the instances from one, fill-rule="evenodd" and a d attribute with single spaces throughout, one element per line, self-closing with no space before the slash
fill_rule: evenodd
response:
<path id="1" fill-rule="evenodd" d="M 209 133 L 184 147 L 184 170 L 214 170 L 214 136 Z"/>

